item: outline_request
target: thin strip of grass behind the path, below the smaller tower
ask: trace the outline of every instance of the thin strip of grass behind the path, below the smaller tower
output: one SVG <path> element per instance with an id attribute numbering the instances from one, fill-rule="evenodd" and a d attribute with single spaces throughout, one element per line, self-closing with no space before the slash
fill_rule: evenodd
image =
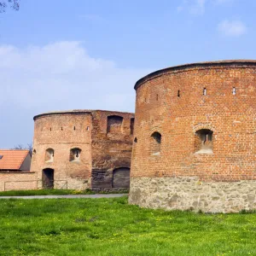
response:
<path id="1" fill-rule="evenodd" d="M 128 193 L 127 189 L 115 192 L 100 191 L 97 194 L 123 194 Z M 38 190 L 10 190 L 0 192 L 0 196 L 14 196 L 14 195 L 94 195 L 94 191 L 86 190 L 73 190 L 73 189 L 38 189 Z"/>

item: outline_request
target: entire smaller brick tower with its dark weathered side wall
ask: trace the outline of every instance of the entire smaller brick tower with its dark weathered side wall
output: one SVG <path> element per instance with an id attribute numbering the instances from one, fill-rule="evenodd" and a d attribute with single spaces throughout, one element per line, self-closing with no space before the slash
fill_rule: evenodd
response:
<path id="1" fill-rule="evenodd" d="M 38 189 L 129 188 L 133 113 L 72 110 L 34 121 L 31 170 Z"/>

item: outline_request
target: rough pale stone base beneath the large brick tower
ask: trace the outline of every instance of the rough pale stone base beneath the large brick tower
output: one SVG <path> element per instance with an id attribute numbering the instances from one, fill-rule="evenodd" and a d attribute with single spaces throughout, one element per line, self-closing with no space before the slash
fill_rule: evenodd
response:
<path id="1" fill-rule="evenodd" d="M 201 182 L 196 177 L 133 177 L 129 203 L 147 208 L 202 212 L 256 209 L 256 181 Z"/>

